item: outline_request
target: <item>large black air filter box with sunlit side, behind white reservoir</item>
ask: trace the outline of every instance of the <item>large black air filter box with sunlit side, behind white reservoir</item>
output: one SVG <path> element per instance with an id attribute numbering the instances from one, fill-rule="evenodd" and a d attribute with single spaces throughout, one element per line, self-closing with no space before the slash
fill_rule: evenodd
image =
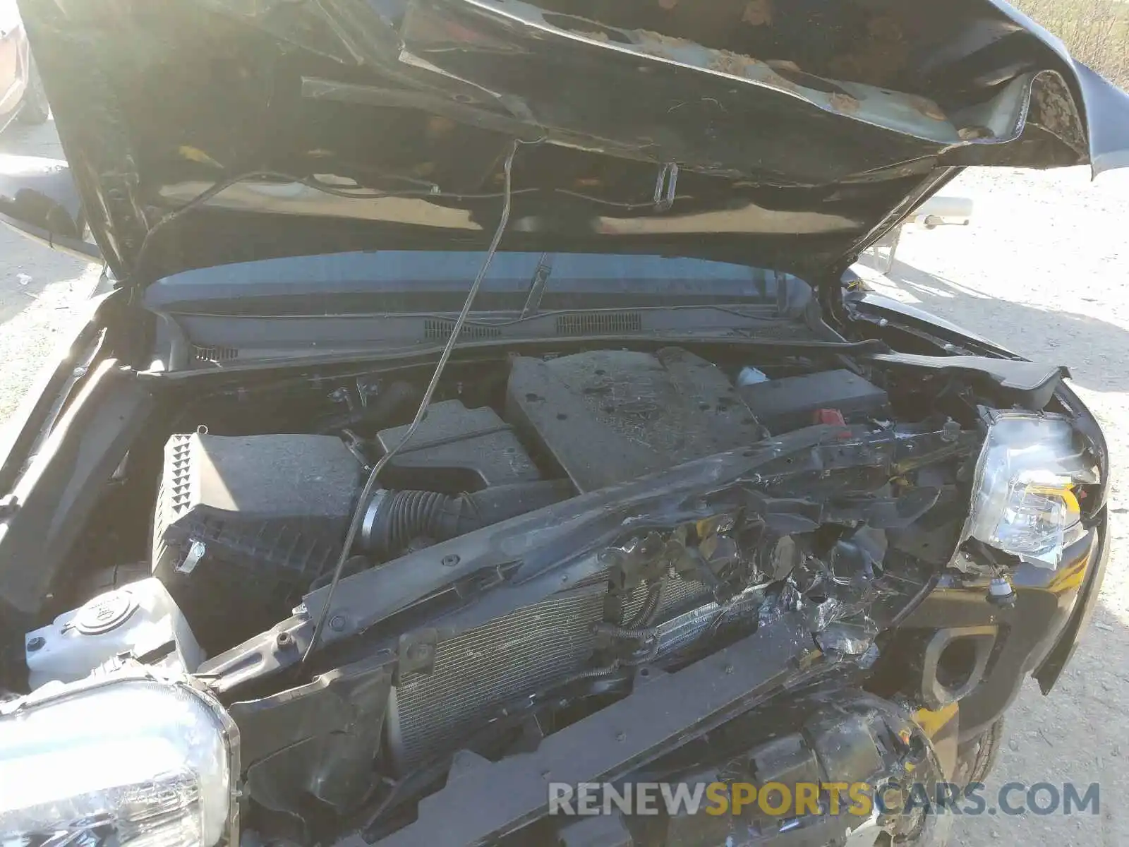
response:
<path id="1" fill-rule="evenodd" d="M 334 436 L 169 438 L 152 573 L 205 650 L 289 614 L 340 553 L 360 483 Z"/>

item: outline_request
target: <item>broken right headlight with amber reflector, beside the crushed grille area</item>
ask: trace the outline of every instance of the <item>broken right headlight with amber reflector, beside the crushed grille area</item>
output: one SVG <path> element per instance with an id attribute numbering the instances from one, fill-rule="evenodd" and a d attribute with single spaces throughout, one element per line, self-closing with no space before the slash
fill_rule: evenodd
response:
<path id="1" fill-rule="evenodd" d="M 1078 487 L 1096 481 L 1069 421 L 999 412 L 977 463 L 965 536 L 1058 567 L 1062 550 L 1084 532 Z"/>

